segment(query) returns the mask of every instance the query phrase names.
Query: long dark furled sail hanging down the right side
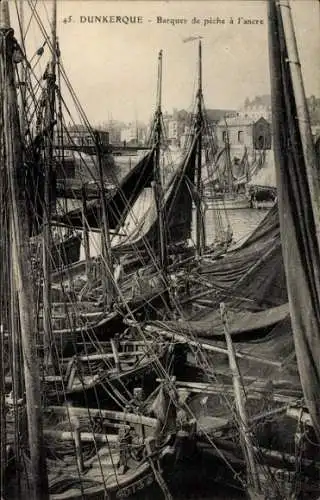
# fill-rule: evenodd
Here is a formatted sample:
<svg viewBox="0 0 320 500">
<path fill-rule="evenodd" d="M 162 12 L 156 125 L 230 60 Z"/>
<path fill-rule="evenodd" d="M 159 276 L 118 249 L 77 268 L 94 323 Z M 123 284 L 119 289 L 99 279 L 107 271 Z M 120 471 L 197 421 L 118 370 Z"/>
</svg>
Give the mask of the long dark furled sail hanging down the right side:
<svg viewBox="0 0 320 500">
<path fill-rule="evenodd" d="M 289 8 L 287 2 L 280 6 L 269 0 L 272 121 L 280 232 L 298 369 L 305 401 L 320 439 L 320 252 L 316 235 L 320 221 L 313 204 L 317 179 L 312 182 L 315 171 L 303 144 L 301 131 L 305 132 L 305 123 L 299 124 L 297 118 L 300 110 L 292 75 L 297 76 L 299 61 L 297 55 L 292 60 L 292 53 L 291 60 L 288 57 L 288 44 L 292 43 L 288 29 L 292 25 L 288 28 L 290 11 L 286 11 L 284 18 L 283 8 Z"/>
</svg>

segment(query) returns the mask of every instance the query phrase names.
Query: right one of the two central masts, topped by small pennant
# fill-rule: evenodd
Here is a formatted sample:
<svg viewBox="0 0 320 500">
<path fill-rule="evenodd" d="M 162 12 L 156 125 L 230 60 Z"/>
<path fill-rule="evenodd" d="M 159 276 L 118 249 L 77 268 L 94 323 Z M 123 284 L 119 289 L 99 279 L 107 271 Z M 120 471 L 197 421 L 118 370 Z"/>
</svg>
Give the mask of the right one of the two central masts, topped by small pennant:
<svg viewBox="0 0 320 500">
<path fill-rule="evenodd" d="M 197 91 L 197 118 L 196 118 L 196 133 L 198 136 L 197 142 L 197 165 L 196 165 L 196 252 L 200 256 L 203 253 L 205 246 L 204 225 L 201 212 L 202 199 L 202 182 L 201 182 L 201 166 L 202 166 L 202 129 L 203 129 L 203 111 L 202 111 L 202 44 L 199 40 L 198 46 L 198 91 Z"/>
</svg>

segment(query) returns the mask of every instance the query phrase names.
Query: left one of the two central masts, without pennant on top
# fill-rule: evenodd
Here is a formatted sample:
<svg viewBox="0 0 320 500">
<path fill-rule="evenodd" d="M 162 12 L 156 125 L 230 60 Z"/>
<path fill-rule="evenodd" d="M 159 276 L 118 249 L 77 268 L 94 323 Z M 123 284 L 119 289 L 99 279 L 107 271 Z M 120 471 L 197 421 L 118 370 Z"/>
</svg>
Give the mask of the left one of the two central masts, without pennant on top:
<svg viewBox="0 0 320 500">
<path fill-rule="evenodd" d="M 165 273 L 167 268 L 167 245 L 165 221 L 163 213 L 163 190 L 160 174 L 160 147 L 162 139 L 162 50 L 158 56 L 158 79 L 157 79 L 157 108 L 155 126 L 155 164 L 154 164 L 154 193 L 159 221 L 159 245 L 160 266 Z"/>
</svg>

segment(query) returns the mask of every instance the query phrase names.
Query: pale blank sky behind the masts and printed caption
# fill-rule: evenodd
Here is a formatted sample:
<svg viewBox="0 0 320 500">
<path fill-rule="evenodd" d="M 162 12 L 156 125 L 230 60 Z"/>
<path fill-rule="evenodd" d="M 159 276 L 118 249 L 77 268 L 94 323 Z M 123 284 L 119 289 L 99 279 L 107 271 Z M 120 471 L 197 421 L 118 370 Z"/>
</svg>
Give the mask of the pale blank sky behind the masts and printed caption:
<svg viewBox="0 0 320 500">
<path fill-rule="evenodd" d="M 44 5 L 38 2 L 46 27 L 51 5 L 50 0 Z M 320 4 L 318 0 L 292 0 L 291 6 L 306 94 L 320 96 Z M 11 11 L 15 25 L 14 8 Z M 26 9 L 26 25 L 28 15 Z M 106 16 L 109 22 L 89 23 L 90 16 Z M 112 16 L 131 16 L 136 22 L 112 23 Z M 194 18 L 200 23 L 192 22 Z M 258 24 L 245 24 L 244 19 Z M 198 49 L 197 41 L 183 41 L 188 37 L 202 37 L 207 108 L 237 109 L 246 97 L 270 93 L 265 1 L 58 0 L 57 21 L 65 70 L 92 124 L 111 118 L 126 122 L 150 119 L 160 49 L 163 109 L 192 109 Z M 30 53 L 42 44 L 34 22 L 27 41 Z"/>
</svg>

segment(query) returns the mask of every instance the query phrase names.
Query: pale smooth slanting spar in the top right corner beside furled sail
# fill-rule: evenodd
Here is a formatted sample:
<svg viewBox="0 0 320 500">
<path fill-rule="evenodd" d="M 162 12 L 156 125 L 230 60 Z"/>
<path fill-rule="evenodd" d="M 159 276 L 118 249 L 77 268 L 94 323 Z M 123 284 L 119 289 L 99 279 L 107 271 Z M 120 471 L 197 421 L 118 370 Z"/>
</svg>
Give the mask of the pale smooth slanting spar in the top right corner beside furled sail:
<svg viewBox="0 0 320 500">
<path fill-rule="evenodd" d="M 282 17 L 283 30 L 286 41 L 288 60 L 290 68 L 295 104 L 297 110 L 297 122 L 301 135 L 302 149 L 306 163 L 308 185 L 310 191 L 311 204 L 315 217 L 315 227 L 317 232 L 318 246 L 320 248 L 320 177 L 317 166 L 315 146 L 311 132 L 310 116 L 303 85 L 301 64 L 294 32 L 291 7 L 288 0 L 278 2 Z"/>
</svg>

